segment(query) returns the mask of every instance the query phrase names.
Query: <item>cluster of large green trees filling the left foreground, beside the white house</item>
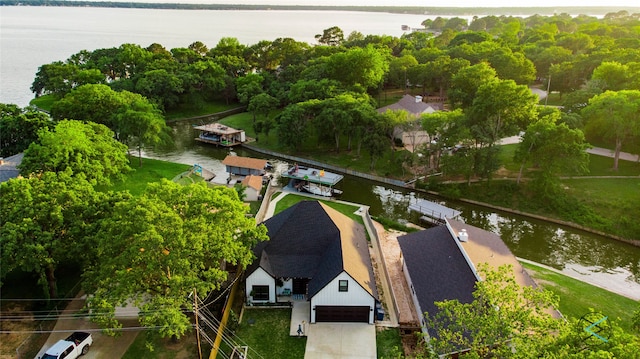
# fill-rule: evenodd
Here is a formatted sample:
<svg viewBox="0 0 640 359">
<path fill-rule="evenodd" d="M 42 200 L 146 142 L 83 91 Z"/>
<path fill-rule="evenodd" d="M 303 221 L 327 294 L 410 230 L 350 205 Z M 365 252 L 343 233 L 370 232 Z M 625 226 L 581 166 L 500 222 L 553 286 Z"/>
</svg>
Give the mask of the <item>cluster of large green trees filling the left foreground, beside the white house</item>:
<svg viewBox="0 0 640 359">
<path fill-rule="evenodd" d="M 107 331 L 121 326 L 115 308 L 132 301 L 142 325 L 179 338 L 191 328 L 189 294 L 219 290 L 226 265 L 245 268 L 266 229 L 224 186 L 165 180 L 138 197 L 96 189 L 121 180 L 128 164 L 127 146 L 103 124 L 42 126 L 24 150 L 22 176 L 0 183 L 0 281 L 32 272 L 56 298 L 57 269 L 72 264 L 92 294 L 92 319 Z"/>
</svg>

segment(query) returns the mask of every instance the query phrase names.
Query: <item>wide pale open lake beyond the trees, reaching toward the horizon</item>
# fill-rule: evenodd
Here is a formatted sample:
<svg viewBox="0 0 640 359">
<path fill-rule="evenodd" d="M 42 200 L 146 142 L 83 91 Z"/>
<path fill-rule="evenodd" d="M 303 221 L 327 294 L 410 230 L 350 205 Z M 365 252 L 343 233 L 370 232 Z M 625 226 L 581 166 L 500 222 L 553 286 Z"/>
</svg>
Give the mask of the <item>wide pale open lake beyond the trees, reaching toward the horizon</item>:
<svg viewBox="0 0 640 359">
<path fill-rule="evenodd" d="M 0 7 L 0 102 L 28 105 L 38 67 L 64 61 L 80 50 L 123 43 L 167 49 L 201 41 L 215 47 L 223 37 L 244 45 L 290 37 L 310 44 L 338 26 L 345 37 L 401 36 L 402 25 L 419 27 L 426 15 L 348 11 L 154 10 L 76 7 Z"/>
</svg>

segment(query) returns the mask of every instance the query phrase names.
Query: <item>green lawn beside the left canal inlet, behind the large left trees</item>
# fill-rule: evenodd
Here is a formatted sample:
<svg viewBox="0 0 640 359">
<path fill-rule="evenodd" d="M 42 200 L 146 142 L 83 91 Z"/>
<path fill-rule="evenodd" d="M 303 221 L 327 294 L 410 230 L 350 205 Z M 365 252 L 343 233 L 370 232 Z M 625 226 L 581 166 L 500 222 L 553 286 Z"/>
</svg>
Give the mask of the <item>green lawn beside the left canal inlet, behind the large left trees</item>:
<svg viewBox="0 0 640 359">
<path fill-rule="evenodd" d="M 142 167 L 138 167 L 138 158 L 131 157 L 133 171 L 126 174 L 124 181 L 116 182 L 112 186 L 99 186 L 102 191 L 129 191 L 134 196 L 144 192 L 149 183 L 158 182 L 163 178 L 173 179 L 180 173 L 188 171 L 191 166 L 167 161 L 142 159 Z"/>
</svg>

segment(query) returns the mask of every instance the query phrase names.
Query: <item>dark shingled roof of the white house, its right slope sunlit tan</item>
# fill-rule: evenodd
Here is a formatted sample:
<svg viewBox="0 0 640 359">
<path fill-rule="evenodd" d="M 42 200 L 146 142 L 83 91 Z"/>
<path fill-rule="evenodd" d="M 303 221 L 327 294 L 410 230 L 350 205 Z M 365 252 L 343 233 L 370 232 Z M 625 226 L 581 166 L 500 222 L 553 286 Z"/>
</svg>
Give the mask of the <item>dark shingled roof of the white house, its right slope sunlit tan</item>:
<svg viewBox="0 0 640 359">
<path fill-rule="evenodd" d="M 311 278 L 309 296 L 343 270 L 374 298 L 378 297 L 364 227 L 318 201 L 302 201 L 264 222 L 269 241 L 254 248 L 262 267 L 274 278 Z"/>
</svg>

